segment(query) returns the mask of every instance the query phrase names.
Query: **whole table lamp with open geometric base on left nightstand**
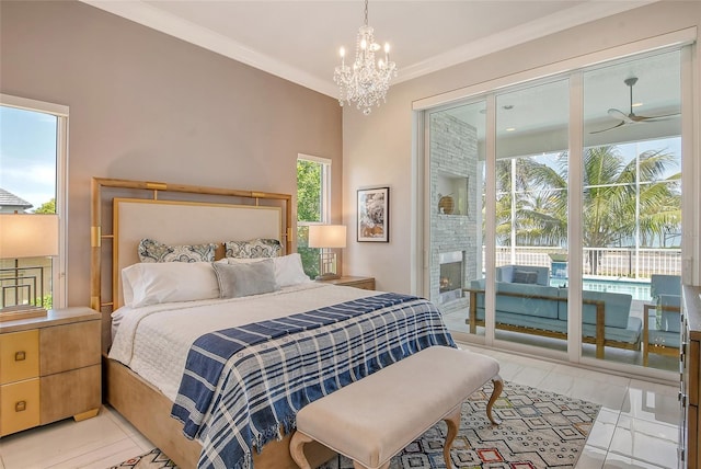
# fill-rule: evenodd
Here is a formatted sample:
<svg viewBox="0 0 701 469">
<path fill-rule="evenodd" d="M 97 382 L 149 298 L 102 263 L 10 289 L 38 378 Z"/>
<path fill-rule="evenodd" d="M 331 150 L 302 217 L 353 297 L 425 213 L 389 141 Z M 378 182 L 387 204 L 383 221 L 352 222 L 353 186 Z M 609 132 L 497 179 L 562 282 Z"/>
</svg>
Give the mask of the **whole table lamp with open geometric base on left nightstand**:
<svg viewBox="0 0 701 469">
<path fill-rule="evenodd" d="M 23 258 L 58 255 L 58 215 L 0 214 L 0 259 L 14 259 L 14 267 L 2 268 L 0 291 L 2 305 L 0 322 L 46 316 L 44 298 L 44 266 L 20 266 Z M 38 271 L 36 276 L 23 276 L 25 271 Z M 7 275 L 10 273 L 10 275 Z M 25 284 L 23 281 L 31 279 Z M 5 284 L 5 282 L 12 282 Z M 38 283 L 38 286 L 37 286 Z M 26 304 L 20 304 L 20 291 L 26 290 Z M 8 293 L 14 293 L 14 306 L 7 306 Z M 37 305 L 37 296 L 39 305 Z"/>
</svg>

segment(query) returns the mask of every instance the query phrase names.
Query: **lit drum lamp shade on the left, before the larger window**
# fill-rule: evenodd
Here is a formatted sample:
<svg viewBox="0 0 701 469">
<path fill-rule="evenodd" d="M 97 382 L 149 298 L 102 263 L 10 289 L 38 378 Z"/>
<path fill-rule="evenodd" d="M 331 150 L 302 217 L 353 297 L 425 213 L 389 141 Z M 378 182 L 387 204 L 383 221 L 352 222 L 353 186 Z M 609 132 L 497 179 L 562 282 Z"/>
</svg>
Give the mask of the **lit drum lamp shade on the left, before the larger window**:
<svg viewBox="0 0 701 469">
<path fill-rule="evenodd" d="M 58 255 L 58 215 L 0 214 L 0 259 Z"/>
</svg>

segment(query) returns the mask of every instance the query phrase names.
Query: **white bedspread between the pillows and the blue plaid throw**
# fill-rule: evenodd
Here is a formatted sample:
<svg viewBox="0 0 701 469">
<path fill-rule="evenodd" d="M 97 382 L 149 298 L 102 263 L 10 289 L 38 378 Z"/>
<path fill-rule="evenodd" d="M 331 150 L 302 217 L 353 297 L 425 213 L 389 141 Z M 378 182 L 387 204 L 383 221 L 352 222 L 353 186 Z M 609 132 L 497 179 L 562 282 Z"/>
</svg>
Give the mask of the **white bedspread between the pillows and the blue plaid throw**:
<svg viewBox="0 0 701 469">
<path fill-rule="evenodd" d="M 123 307 L 113 313 L 119 325 L 110 358 L 128 366 L 174 401 L 187 353 L 200 335 L 378 294 L 306 283 L 243 298 Z"/>
</svg>

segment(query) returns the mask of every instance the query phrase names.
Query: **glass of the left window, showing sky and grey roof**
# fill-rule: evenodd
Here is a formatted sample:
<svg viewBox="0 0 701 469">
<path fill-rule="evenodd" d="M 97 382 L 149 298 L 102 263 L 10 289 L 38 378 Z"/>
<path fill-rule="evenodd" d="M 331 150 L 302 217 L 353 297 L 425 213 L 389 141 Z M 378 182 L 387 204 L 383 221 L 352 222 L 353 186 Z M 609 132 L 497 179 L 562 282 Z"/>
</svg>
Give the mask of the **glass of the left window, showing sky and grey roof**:
<svg viewBox="0 0 701 469">
<path fill-rule="evenodd" d="M 0 213 L 55 214 L 58 118 L 0 106 Z M 53 305 L 53 259 L 0 260 L 0 308 Z"/>
</svg>

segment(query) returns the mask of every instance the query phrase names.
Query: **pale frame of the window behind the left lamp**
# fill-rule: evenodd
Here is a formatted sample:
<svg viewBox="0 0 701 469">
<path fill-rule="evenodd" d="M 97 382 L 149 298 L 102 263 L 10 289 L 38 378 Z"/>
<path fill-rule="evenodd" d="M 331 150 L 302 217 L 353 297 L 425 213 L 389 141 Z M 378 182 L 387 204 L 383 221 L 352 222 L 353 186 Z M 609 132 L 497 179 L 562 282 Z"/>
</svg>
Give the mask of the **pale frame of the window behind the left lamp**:
<svg viewBox="0 0 701 469">
<path fill-rule="evenodd" d="M 56 117 L 56 215 L 58 215 L 58 256 L 51 268 L 53 307 L 68 305 L 66 281 L 68 253 L 68 116 L 69 106 L 0 93 L 0 105 L 51 114 Z"/>
</svg>

